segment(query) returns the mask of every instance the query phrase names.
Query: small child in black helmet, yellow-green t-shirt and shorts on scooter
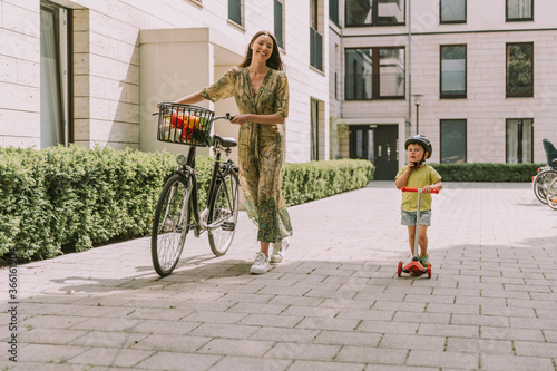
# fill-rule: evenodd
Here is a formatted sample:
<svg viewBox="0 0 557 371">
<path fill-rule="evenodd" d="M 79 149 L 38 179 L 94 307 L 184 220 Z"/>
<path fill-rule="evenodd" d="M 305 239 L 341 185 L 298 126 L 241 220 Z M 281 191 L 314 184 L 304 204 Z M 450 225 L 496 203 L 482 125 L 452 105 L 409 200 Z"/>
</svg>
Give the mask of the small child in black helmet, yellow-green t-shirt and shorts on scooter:
<svg viewBox="0 0 557 371">
<path fill-rule="evenodd" d="M 420 226 L 418 231 L 418 244 L 420 245 L 420 263 L 427 266 L 428 256 L 428 226 L 431 224 L 431 189 L 441 189 L 441 176 L 424 162 L 431 156 L 431 141 L 423 135 L 418 134 L 404 143 L 408 165 L 397 174 L 394 185 L 398 189 L 402 187 L 422 188 L 420 205 Z M 418 194 L 402 193 L 402 225 L 408 226 L 408 242 L 412 256 L 414 254 L 416 214 L 418 209 Z"/>
</svg>

